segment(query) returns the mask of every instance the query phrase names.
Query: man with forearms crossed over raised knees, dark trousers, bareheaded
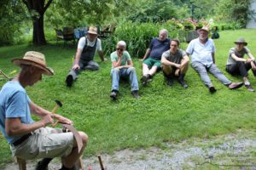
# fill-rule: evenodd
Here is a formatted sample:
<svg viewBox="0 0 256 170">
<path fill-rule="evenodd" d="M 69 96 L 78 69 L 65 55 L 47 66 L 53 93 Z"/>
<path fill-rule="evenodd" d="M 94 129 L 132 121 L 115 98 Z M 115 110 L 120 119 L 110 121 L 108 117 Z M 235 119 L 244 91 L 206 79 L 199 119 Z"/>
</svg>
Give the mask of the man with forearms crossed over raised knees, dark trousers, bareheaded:
<svg viewBox="0 0 256 170">
<path fill-rule="evenodd" d="M 179 40 L 172 39 L 171 48 L 162 54 L 163 73 L 167 79 L 167 85 L 173 85 L 173 78 L 177 77 L 177 81 L 183 86 L 188 88 L 184 81 L 186 72 L 189 69 L 189 57 L 182 49 L 178 48 Z"/>
</svg>

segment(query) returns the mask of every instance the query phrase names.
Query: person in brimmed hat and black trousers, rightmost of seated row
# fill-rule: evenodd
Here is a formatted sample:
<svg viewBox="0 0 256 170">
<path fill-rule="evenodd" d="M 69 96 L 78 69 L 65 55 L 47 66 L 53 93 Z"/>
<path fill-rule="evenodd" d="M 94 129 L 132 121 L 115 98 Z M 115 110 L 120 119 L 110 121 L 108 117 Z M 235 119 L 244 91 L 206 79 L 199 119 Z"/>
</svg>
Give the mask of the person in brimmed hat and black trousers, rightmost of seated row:
<svg viewBox="0 0 256 170">
<path fill-rule="evenodd" d="M 247 90 L 254 92 L 251 83 L 248 81 L 248 72 L 250 69 L 253 71 L 254 77 L 256 77 L 256 62 L 253 54 L 246 48 L 247 42 L 244 38 L 238 38 L 235 42 L 236 47 L 230 48 L 229 56 L 226 65 L 226 71 L 231 75 L 241 75 L 243 77 L 244 85 Z M 247 54 L 248 59 L 243 59 L 244 54 Z"/>
</svg>

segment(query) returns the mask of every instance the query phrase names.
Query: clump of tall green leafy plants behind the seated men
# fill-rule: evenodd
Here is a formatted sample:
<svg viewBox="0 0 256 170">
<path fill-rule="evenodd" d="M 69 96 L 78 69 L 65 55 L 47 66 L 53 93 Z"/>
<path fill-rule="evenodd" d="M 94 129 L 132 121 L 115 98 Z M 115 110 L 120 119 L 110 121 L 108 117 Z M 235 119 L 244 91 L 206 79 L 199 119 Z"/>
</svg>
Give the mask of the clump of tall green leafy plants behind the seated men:
<svg viewBox="0 0 256 170">
<path fill-rule="evenodd" d="M 153 37 L 158 37 L 159 31 L 163 28 L 169 31 L 169 37 L 177 37 L 177 27 L 167 23 L 137 23 L 125 22 L 117 26 L 113 37 L 103 39 L 102 43 L 105 53 L 110 54 L 115 50 L 118 41 L 123 40 L 127 43 L 127 50 L 133 57 L 141 58 Z"/>
</svg>

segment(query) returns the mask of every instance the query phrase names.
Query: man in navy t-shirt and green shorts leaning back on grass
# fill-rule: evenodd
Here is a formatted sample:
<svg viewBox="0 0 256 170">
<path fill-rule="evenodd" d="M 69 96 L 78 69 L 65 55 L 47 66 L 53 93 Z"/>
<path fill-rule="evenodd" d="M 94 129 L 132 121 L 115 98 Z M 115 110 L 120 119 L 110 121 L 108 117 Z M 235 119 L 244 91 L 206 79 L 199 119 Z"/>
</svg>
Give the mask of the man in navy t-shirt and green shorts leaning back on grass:
<svg viewBox="0 0 256 170">
<path fill-rule="evenodd" d="M 143 85 L 147 85 L 154 73 L 160 69 L 161 56 L 170 48 L 170 39 L 167 37 L 168 31 L 162 29 L 159 32 L 159 37 L 155 37 L 150 42 L 149 48 L 143 57 L 143 77 L 141 78 Z"/>
</svg>

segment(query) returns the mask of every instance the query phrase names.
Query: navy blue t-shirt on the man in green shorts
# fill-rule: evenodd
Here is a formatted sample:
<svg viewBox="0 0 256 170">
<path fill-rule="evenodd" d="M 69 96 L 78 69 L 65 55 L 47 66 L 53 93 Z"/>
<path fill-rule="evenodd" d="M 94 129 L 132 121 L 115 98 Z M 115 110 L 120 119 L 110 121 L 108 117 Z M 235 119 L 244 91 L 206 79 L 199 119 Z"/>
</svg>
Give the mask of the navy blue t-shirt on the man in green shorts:
<svg viewBox="0 0 256 170">
<path fill-rule="evenodd" d="M 152 59 L 160 60 L 162 54 L 170 49 L 170 39 L 166 38 L 165 41 L 160 41 L 158 38 L 154 38 L 149 45 L 150 54 L 149 57 Z"/>
</svg>

